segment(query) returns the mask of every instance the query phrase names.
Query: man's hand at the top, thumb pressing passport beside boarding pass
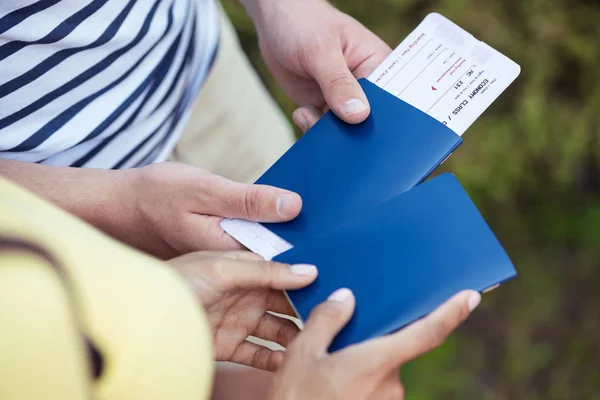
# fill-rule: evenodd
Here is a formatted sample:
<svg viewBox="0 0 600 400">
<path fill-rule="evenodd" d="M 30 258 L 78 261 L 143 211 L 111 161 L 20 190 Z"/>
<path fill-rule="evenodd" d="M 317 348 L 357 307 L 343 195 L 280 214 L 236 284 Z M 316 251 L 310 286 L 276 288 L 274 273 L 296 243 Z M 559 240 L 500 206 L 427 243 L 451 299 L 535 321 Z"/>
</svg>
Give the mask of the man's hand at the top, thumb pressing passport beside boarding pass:
<svg viewBox="0 0 600 400">
<path fill-rule="evenodd" d="M 328 106 L 348 123 L 367 118 L 369 103 L 356 78 L 391 52 L 385 42 L 326 0 L 241 1 L 267 66 L 297 104 Z M 294 122 L 306 131 L 315 113 L 300 108 Z"/>
</svg>

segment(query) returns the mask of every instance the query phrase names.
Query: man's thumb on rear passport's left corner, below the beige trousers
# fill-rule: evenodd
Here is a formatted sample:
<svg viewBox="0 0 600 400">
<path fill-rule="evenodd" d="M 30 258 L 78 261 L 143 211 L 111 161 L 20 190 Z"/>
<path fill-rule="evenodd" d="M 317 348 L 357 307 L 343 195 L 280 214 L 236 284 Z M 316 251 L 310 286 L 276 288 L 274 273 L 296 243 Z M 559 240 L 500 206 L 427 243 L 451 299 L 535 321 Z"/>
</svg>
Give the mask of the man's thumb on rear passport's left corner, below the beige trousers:
<svg viewBox="0 0 600 400">
<path fill-rule="evenodd" d="M 212 176 L 204 182 L 199 214 L 241 218 L 257 222 L 285 222 L 298 216 L 302 199 L 288 190 L 247 185 Z"/>
</svg>

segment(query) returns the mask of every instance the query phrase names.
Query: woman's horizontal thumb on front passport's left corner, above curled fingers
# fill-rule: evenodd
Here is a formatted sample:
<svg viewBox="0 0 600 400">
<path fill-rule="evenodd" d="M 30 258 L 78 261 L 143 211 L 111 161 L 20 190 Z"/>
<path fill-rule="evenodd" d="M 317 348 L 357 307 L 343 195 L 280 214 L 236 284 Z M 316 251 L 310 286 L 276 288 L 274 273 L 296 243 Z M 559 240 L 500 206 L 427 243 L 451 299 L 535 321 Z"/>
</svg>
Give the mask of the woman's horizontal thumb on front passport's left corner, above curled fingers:
<svg viewBox="0 0 600 400">
<path fill-rule="evenodd" d="M 224 289 L 300 289 L 317 278 L 314 265 L 287 265 L 271 261 L 216 259 L 214 276 Z"/>
</svg>

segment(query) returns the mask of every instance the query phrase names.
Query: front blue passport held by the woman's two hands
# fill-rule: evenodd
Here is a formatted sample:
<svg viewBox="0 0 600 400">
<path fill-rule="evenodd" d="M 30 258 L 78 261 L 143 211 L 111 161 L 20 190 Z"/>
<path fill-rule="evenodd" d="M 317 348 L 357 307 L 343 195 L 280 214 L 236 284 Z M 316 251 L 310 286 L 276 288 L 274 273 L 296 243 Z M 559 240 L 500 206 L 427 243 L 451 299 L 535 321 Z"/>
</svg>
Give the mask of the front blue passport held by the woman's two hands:
<svg viewBox="0 0 600 400">
<path fill-rule="evenodd" d="M 313 264 L 311 286 L 289 291 L 299 317 L 347 287 L 356 311 L 331 351 L 394 332 L 464 289 L 484 291 L 516 276 L 469 196 L 442 174 L 274 258 Z"/>
</svg>

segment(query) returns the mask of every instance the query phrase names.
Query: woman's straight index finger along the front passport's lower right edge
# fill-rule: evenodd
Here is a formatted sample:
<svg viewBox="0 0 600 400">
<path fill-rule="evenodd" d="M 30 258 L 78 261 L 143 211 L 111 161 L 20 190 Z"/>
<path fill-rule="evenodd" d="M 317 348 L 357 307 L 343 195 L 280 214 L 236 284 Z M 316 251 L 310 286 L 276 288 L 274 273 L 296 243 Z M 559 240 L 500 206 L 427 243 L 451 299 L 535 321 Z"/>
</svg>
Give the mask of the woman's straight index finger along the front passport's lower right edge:
<svg viewBox="0 0 600 400">
<path fill-rule="evenodd" d="M 478 292 L 461 292 L 425 318 L 397 333 L 374 339 L 361 350 L 372 356 L 370 360 L 374 368 L 387 373 L 444 343 L 480 301 Z"/>
</svg>

